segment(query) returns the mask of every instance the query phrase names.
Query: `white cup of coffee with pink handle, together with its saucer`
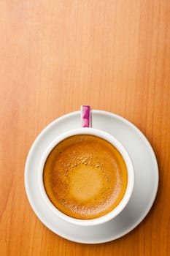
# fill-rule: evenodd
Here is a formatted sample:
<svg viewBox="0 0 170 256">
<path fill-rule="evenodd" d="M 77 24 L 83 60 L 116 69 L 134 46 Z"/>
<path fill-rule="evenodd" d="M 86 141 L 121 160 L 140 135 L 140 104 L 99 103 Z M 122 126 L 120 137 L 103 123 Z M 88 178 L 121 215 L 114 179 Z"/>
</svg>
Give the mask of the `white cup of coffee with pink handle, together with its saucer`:
<svg viewBox="0 0 170 256">
<path fill-rule="evenodd" d="M 36 138 L 25 187 L 46 227 L 71 241 L 99 244 L 124 236 L 146 217 L 158 189 L 158 164 L 134 124 L 83 105 Z"/>
</svg>

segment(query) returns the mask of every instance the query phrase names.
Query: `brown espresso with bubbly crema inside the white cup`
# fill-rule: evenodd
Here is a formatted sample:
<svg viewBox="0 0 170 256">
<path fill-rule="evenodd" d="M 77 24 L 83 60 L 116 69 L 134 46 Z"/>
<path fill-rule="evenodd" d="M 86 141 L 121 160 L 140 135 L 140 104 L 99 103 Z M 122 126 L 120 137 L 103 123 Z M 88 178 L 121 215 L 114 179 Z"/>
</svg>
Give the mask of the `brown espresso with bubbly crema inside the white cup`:
<svg viewBox="0 0 170 256">
<path fill-rule="evenodd" d="M 72 135 L 48 154 L 43 183 L 53 206 L 74 219 L 95 219 L 125 195 L 128 170 L 120 152 L 96 135 Z"/>
</svg>

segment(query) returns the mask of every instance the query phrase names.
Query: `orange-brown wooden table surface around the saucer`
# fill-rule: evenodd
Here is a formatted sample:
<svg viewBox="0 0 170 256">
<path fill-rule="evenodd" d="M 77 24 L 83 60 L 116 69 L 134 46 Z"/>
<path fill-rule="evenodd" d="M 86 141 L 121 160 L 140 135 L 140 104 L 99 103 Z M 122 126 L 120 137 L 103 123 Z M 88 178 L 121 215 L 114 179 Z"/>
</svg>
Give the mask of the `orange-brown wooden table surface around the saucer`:
<svg viewBox="0 0 170 256">
<path fill-rule="evenodd" d="M 170 255 L 170 1 L 1 0 L 0 81 L 0 255 Z M 52 233 L 24 187 L 36 136 L 82 104 L 133 122 L 158 158 L 150 213 L 107 244 Z"/>
</svg>

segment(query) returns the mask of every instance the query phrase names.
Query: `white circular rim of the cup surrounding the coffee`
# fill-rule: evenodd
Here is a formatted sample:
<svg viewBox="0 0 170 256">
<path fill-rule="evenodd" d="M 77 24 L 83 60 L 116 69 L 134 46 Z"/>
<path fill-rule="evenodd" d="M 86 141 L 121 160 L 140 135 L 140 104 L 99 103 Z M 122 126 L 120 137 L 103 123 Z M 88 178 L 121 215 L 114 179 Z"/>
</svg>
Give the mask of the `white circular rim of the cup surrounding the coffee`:
<svg viewBox="0 0 170 256">
<path fill-rule="evenodd" d="M 120 154 L 122 155 L 125 161 L 125 165 L 128 171 L 128 184 L 125 190 L 125 194 L 123 196 L 123 199 L 120 200 L 120 203 L 114 209 L 112 209 L 112 211 L 109 211 L 109 213 L 105 214 L 104 216 L 97 217 L 94 219 L 76 219 L 74 217 L 69 217 L 68 215 L 63 214 L 63 212 L 59 211 L 58 208 L 56 208 L 53 205 L 53 203 L 50 201 L 49 197 L 45 192 L 45 187 L 43 182 L 43 171 L 44 171 L 44 165 L 45 165 L 46 159 L 50 154 L 50 151 L 52 151 L 53 148 L 58 145 L 58 143 L 60 143 L 62 140 L 69 138 L 73 135 L 94 135 L 99 138 L 103 138 L 104 140 L 107 140 L 109 143 L 115 146 L 115 148 L 117 148 L 117 150 L 120 152 Z M 118 214 L 120 214 L 120 212 L 123 211 L 123 208 L 125 208 L 128 201 L 130 200 L 131 194 L 134 189 L 134 165 L 125 147 L 120 143 L 120 141 L 118 141 L 115 137 L 113 137 L 109 133 L 104 132 L 100 129 L 94 129 L 91 127 L 72 129 L 69 132 L 64 132 L 63 134 L 58 135 L 58 137 L 55 138 L 55 140 L 53 140 L 53 142 L 50 143 L 49 146 L 47 146 L 47 149 L 44 152 L 44 154 L 42 154 L 42 158 L 39 162 L 39 169 L 38 169 L 38 185 L 39 185 L 39 190 L 42 195 L 42 198 L 45 201 L 47 207 L 50 208 L 50 210 L 53 211 L 53 213 L 57 215 L 59 218 L 65 220 L 66 222 L 70 222 L 74 225 L 81 225 L 81 226 L 99 225 L 109 221 L 110 219 L 115 218 Z"/>
</svg>

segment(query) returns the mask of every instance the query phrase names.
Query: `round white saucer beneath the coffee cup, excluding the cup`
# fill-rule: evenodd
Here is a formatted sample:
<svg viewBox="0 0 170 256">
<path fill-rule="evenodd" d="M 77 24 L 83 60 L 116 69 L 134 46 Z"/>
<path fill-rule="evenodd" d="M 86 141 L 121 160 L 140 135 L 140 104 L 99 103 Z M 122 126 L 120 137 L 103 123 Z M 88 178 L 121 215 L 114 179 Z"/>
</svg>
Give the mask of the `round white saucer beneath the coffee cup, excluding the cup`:
<svg viewBox="0 0 170 256">
<path fill-rule="evenodd" d="M 128 205 L 115 219 L 94 227 L 69 224 L 47 208 L 39 192 L 39 159 L 56 136 L 81 127 L 80 111 L 61 116 L 40 133 L 31 146 L 25 170 L 26 194 L 36 216 L 58 236 L 84 244 L 112 241 L 133 230 L 150 211 L 158 189 L 158 164 L 152 147 L 142 132 L 125 118 L 101 110 L 92 110 L 92 121 L 93 128 L 109 132 L 120 140 L 134 162 L 134 192 Z"/>
</svg>

